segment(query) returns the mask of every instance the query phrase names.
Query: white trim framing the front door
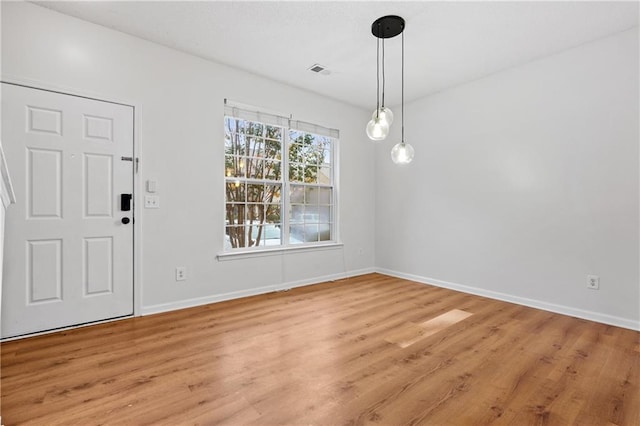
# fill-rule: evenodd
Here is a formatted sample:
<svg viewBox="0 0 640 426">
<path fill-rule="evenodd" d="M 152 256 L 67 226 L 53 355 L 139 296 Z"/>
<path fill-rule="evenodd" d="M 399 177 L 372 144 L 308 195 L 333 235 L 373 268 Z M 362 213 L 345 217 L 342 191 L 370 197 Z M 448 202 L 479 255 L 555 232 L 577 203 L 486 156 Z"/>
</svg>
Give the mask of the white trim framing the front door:
<svg viewBox="0 0 640 426">
<path fill-rule="evenodd" d="M 100 102 L 108 102 L 117 105 L 124 105 L 133 108 L 133 156 L 134 158 L 141 158 L 141 137 L 140 137 L 140 127 L 141 127 L 141 116 L 142 116 L 142 103 L 136 102 L 132 100 L 123 100 L 116 98 L 111 95 L 89 92 L 86 90 L 60 86 L 51 84 L 48 82 L 26 79 L 11 75 L 2 75 L 0 77 L 0 83 L 12 84 L 15 86 L 22 86 L 30 89 L 43 90 L 47 92 L 59 93 L 62 95 L 75 96 L 79 98 L 85 98 Z M 143 232 L 142 232 L 142 202 L 141 202 L 141 194 L 142 192 L 142 183 L 143 179 L 140 178 L 144 172 L 144 161 L 139 161 L 139 167 L 136 173 L 133 174 L 133 213 L 134 218 L 136 220 L 133 221 L 133 315 L 128 315 L 125 317 L 118 317 L 107 320 L 100 320 L 96 322 L 92 322 L 89 324 L 80 324 L 70 327 L 63 327 L 55 330 L 49 330 L 44 332 L 32 333 L 28 335 L 15 336 L 6 339 L 0 339 L 0 341 L 9 341 L 15 339 L 21 339 L 26 337 L 37 336 L 40 334 L 47 333 L 55 333 L 61 330 L 70 330 L 79 327 L 85 327 L 89 325 L 101 324 L 105 322 L 117 321 L 122 318 L 131 318 L 131 317 L 139 317 L 142 315 L 142 283 L 143 283 L 143 270 L 140 259 L 142 259 L 142 241 L 143 241 Z M 1 291 L 1 289 L 0 289 Z M 0 307 L 1 309 L 1 307 Z"/>
</svg>

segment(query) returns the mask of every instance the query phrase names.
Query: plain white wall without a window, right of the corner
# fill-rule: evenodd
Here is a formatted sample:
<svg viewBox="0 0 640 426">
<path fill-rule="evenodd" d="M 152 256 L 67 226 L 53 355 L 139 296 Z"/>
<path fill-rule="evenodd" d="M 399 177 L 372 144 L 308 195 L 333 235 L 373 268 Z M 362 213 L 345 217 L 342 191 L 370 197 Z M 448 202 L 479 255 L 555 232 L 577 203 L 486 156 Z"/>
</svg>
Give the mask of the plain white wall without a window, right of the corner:
<svg viewBox="0 0 640 426">
<path fill-rule="evenodd" d="M 376 265 L 639 329 L 638 90 L 636 27 L 406 105 L 414 162 L 376 153 Z"/>
</svg>

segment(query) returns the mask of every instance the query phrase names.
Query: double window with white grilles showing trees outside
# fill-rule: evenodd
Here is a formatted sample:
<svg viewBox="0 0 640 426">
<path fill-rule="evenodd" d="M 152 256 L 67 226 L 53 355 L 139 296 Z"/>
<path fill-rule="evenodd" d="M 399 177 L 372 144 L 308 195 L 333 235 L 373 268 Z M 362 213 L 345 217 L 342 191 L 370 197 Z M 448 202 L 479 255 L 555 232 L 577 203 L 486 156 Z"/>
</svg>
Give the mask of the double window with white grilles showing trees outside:
<svg viewBox="0 0 640 426">
<path fill-rule="evenodd" d="M 338 131 L 225 109 L 225 251 L 336 241 Z"/>
</svg>

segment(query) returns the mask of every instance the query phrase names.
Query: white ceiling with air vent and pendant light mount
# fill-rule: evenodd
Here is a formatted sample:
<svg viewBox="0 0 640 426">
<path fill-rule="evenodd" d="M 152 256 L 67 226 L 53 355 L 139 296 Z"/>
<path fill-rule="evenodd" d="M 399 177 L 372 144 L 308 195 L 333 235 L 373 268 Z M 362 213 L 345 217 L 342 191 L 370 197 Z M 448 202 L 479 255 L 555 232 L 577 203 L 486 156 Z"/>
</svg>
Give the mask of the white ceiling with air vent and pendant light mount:
<svg viewBox="0 0 640 426">
<path fill-rule="evenodd" d="M 406 21 L 405 101 L 638 25 L 630 2 L 43 1 L 37 4 L 352 105 L 375 108 L 372 22 Z M 400 102 L 400 37 L 386 104 Z M 320 63 L 330 75 L 308 68 Z M 212 76 L 212 78 L 215 78 Z"/>
</svg>

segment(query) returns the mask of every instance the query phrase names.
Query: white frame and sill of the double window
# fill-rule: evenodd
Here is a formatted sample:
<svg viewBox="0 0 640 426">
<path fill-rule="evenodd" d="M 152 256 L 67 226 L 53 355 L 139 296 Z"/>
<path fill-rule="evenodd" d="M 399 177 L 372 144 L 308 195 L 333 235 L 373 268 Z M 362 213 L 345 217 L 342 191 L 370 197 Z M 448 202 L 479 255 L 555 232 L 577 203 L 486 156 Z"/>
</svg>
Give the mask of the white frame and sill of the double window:
<svg viewBox="0 0 640 426">
<path fill-rule="evenodd" d="M 223 174 L 224 177 L 222 179 L 223 185 L 223 200 L 222 200 L 222 228 L 223 228 L 223 239 L 222 239 L 222 251 L 218 253 L 219 260 L 226 260 L 226 258 L 235 258 L 235 257 L 253 257 L 253 256 L 262 256 L 269 254 L 279 254 L 284 251 L 296 251 L 296 250 L 326 250 L 331 248 L 341 247 L 342 243 L 339 238 L 339 220 L 338 220 L 338 199 L 339 199 L 339 181 L 338 181 L 338 149 L 339 149 L 339 141 L 340 141 L 340 133 L 336 129 L 331 129 L 323 126 L 319 126 L 316 124 L 311 124 L 303 121 L 293 120 L 291 117 L 285 117 L 284 115 L 267 112 L 266 110 L 249 107 L 242 104 L 232 103 L 228 100 L 225 100 L 225 113 L 224 119 L 227 117 L 239 118 L 245 121 L 253 121 L 258 122 L 263 125 L 271 125 L 278 126 L 282 128 L 283 138 L 282 138 L 282 164 L 281 164 L 281 176 L 279 181 L 266 181 L 262 179 L 263 183 L 274 183 L 281 185 L 281 204 L 280 204 L 280 223 L 281 223 L 281 244 L 279 245 L 260 245 L 255 247 L 237 247 L 237 248 L 227 248 L 226 247 L 226 231 L 227 231 L 227 223 L 226 223 L 226 207 L 227 207 L 227 195 L 226 195 L 226 185 L 229 181 L 233 180 L 233 177 L 228 177 L 226 175 L 226 164 L 225 164 L 225 153 L 222 154 L 222 162 L 223 162 Z M 226 130 L 226 129 L 225 129 Z M 301 133 L 309 133 L 317 136 L 329 137 L 331 139 L 331 150 L 330 150 L 330 166 L 331 166 L 331 183 L 330 184 L 321 184 L 319 182 L 316 183 L 305 183 L 305 182 L 296 182 L 291 181 L 289 179 L 289 167 L 290 167 L 290 158 L 289 158 L 289 147 L 291 145 L 290 140 L 290 132 L 291 131 L 299 131 Z M 222 148 L 224 149 L 224 144 L 222 144 Z M 243 183 L 250 183 L 252 179 L 248 177 L 243 178 Z M 301 242 L 301 243 L 290 243 L 290 228 L 291 228 L 291 218 L 290 211 L 291 207 L 291 197 L 290 197 L 290 189 L 291 186 L 307 186 L 307 187 L 317 187 L 317 188 L 330 188 L 331 189 L 331 223 L 330 223 L 330 232 L 331 238 L 326 241 L 312 241 L 312 242 Z"/>
</svg>

